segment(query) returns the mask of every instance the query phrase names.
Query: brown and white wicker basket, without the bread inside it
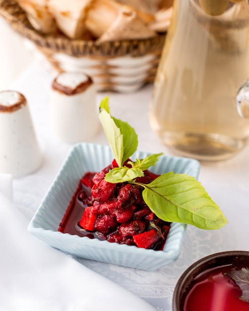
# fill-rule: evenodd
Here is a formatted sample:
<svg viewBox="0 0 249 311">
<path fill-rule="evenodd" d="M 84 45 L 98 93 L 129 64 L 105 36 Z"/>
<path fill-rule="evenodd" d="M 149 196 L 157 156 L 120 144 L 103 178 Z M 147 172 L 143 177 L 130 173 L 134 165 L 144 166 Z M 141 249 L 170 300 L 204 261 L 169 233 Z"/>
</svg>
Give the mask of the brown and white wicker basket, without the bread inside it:
<svg viewBox="0 0 249 311">
<path fill-rule="evenodd" d="M 37 32 L 14 0 L 0 0 L 0 15 L 54 69 L 83 72 L 93 78 L 98 91 L 132 92 L 154 81 L 165 34 L 102 43 L 71 40 Z"/>
</svg>

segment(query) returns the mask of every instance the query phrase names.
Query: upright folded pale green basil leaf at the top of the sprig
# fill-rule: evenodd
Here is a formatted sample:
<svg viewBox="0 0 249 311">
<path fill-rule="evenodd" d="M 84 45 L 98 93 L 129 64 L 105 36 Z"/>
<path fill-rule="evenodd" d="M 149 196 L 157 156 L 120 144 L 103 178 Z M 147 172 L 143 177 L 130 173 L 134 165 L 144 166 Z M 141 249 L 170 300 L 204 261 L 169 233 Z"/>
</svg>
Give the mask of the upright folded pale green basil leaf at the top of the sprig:
<svg viewBox="0 0 249 311">
<path fill-rule="evenodd" d="M 110 115 L 109 97 L 102 99 L 99 106 L 99 119 L 102 123 L 106 138 L 118 166 L 134 154 L 138 146 L 138 136 L 127 123 Z"/>
</svg>

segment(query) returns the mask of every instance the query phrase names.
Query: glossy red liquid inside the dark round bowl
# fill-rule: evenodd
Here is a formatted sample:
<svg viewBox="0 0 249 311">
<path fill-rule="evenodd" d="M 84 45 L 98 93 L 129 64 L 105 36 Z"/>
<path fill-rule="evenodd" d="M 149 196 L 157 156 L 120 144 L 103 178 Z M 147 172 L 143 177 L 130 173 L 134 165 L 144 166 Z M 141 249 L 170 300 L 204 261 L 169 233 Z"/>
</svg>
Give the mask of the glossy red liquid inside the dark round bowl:
<svg viewBox="0 0 249 311">
<path fill-rule="evenodd" d="M 240 288 L 224 275 L 232 268 L 214 268 L 193 280 L 183 311 L 249 311 L 249 303 L 240 299 Z"/>
</svg>

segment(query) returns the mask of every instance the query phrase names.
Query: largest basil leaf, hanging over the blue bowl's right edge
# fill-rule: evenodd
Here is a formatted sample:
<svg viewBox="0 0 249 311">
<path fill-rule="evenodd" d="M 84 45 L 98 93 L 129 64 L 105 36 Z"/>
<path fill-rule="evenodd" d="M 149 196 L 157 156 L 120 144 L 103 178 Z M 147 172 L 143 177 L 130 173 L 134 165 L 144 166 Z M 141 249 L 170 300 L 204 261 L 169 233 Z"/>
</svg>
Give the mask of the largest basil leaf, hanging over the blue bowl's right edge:
<svg viewBox="0 0 249 311">
<path fill-rule="evenodd" d="M 207 230 L 227 224 L 219 206 L 194 177 L 169 172 L 143 186 L 146 204 L 162 220 Z"/>
</svg>

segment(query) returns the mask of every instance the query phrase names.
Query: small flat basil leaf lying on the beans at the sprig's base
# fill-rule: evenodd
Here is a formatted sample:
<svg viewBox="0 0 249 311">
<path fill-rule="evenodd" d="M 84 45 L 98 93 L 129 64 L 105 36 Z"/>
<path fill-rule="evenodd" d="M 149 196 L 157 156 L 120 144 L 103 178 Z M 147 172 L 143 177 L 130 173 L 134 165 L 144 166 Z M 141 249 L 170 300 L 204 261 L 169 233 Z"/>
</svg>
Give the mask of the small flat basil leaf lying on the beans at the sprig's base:
<svg viewBox="0 0 249 311">
<path fill-rule="evenodd" d="M 131 181 L 137 177 L 144 176 L 144 172 L 139 168 L 129 168 L 126 166 L 115 167 L 105 175 L 105 181 L 110 183 L 118 183 Z"/>
</svg>

